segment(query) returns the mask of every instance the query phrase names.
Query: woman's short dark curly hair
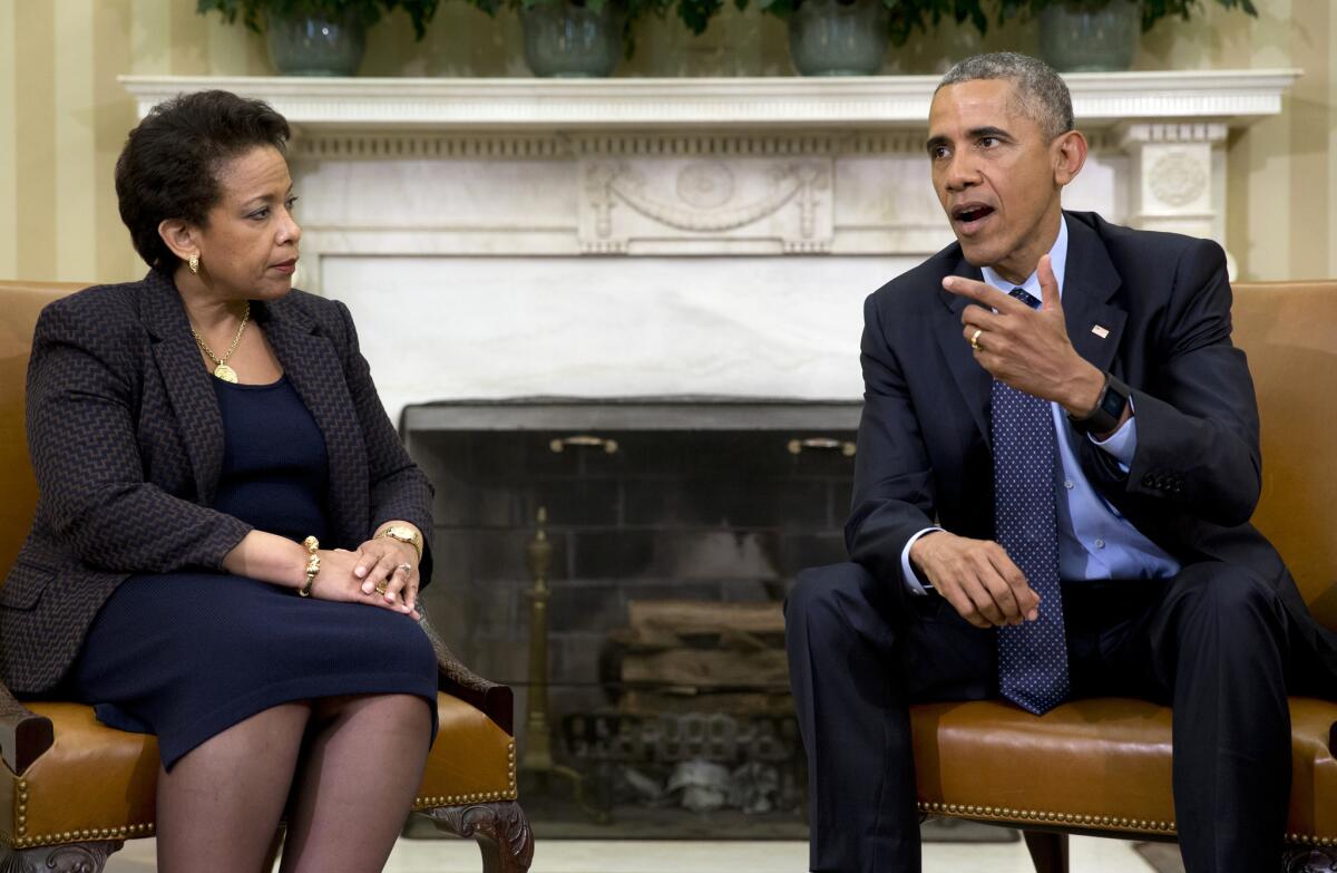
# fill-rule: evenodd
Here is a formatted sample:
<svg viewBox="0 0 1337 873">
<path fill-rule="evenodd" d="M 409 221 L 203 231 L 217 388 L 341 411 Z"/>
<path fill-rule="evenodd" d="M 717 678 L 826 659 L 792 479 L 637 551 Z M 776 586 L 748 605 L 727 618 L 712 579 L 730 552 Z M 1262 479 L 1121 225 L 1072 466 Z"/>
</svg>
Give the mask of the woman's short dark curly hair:
<svg viewBox="0 0 1337 873">
<path fill-rule="evenodd" d="M 183 94 L 148 110 L 116 159 L 120 220 L 139 257 L 154 269 L 175 269 L 180 258 L 158 225 L 179 218 L 207 226 L 223 195 L 223 163 L 258 146 L 282 151 L 290 135 L 287 119 L 267 103 L 229 91 Z"/>
</svg>

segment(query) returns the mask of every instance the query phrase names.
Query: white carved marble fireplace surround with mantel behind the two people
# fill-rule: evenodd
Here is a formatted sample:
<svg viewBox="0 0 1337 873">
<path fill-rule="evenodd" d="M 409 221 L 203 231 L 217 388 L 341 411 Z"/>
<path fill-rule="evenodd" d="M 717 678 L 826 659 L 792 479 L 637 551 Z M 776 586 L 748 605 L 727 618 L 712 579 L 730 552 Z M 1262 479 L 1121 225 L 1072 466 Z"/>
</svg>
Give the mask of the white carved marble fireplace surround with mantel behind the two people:
<svg viewBox="0 0 1337 873">
<path fill-rule="evenodd" d="M 1226 138 L 1300 71 L 1067 76 L 1066 205 L 1225 240 Z M 951 241 L 935 76 L 124 76 L 294 126 L 298 287 L 353 311 L 392 416 L 536 395 L 857 399 L 864 296 Z"/>
</svg>

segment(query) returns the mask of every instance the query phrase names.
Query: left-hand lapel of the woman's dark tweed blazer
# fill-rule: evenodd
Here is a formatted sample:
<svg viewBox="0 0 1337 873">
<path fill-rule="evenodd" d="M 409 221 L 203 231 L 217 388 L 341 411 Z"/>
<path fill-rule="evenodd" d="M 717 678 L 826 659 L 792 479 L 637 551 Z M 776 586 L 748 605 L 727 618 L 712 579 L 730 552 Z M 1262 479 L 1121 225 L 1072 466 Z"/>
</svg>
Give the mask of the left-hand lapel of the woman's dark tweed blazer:
<svg viewBox="0 0 1337 873">
<path fill-rule="evenodd" d="M 209 506 L 223 467 L 223 416 L 209 383 L 213 376 L 201 363 L 186 307 L 171 279 L 150 270 L 140 295 L 140 319 L 152 337 L 154 362 L 190 458 L 195 494 Z"/>
</svg>

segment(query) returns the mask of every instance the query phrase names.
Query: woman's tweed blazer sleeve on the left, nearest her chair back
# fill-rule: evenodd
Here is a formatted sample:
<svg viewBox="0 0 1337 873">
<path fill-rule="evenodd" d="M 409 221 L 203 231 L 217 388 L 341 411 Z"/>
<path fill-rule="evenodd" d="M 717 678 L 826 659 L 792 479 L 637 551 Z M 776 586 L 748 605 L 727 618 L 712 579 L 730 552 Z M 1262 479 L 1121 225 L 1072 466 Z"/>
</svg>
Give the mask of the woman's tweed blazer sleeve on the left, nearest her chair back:
<svg viewBox="0 0 1337 873">
<path fill-rule="evenodd" d="M 33 335 L 27 428 L 39 524 L 92 568 L 218 569 L 251 528 L 144 479 L 132 351 L 140 337 L 87 303 L 48 305 Z"/>
</svg>

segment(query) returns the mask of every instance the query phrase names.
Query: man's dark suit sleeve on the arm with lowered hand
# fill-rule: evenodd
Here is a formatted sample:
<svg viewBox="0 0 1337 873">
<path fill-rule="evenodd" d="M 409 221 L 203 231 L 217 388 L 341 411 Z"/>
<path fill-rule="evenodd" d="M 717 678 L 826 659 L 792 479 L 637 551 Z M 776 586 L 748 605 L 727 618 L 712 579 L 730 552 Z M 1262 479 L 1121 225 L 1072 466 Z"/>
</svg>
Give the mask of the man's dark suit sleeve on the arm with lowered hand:
<svg viewBox="0 0 1337 873">
<path fill-rule="evenodd" d="M 905 378 L 886 344 L 876 297 L 864 304 L 860 343 L 864 412 L 845 548 L 850 560 L 874 577 L 901 588 L 905 544 L 933 526 L 933 475 Z"/>
</svg>

